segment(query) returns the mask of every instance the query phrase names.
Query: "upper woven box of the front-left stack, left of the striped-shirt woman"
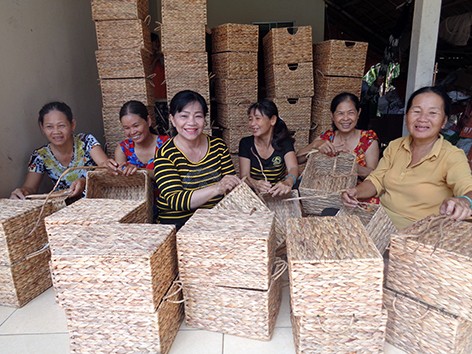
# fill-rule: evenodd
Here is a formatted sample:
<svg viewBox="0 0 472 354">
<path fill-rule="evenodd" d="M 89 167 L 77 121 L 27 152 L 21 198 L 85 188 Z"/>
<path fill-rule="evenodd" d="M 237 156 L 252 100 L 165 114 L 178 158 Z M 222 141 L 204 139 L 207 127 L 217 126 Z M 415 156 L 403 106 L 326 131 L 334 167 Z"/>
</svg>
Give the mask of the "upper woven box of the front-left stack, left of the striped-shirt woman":
<svg viewBox="0 0 472 354">
<path fill-rule="evenodd" d="M 174 226 L 69 224 L 48 233 L 63 308 L 152 313 L 177 276 Z"/>
</svg>

